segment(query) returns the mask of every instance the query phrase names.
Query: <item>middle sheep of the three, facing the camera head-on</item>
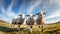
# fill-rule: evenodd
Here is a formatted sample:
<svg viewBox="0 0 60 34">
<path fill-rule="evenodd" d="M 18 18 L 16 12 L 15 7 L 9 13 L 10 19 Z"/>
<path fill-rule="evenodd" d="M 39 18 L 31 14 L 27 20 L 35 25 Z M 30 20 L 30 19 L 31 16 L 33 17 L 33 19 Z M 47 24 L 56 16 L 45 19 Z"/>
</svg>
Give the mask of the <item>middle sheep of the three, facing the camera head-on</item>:
<svg viewBox="0 0 60 34">
<path fill-rule="evenodd" d="M 30 15 L 27 15 L 27 16 L 29 16 L 29 17 L 28 17 L 28 19 L 26 20 L 26 24 L 28 25 L 28 29 L 29 29 L 30 32 L 32 33 L 32 27 L 33 27 L 34 22 L 35 22 L 35 20 L 34 20 L 34 16 L 35 16 L 35 15 L 30 14 Z"/>
</svg>

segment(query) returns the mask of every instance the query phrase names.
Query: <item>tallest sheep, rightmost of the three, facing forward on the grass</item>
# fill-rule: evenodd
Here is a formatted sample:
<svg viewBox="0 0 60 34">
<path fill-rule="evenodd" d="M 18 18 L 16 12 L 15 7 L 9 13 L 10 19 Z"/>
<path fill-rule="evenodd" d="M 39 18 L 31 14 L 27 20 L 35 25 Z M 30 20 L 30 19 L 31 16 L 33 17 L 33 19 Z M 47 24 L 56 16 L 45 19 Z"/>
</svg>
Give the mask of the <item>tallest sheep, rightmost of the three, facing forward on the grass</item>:
<svg viewBox="0 0 60 34">
<path fill-rule="evenodd" d="M 43 24 L 45 23 L 45 19 L 44 19 L 45 13 L 41 11 L 41 12 L 37 13 L 36 15 L 38 15 L 38 17 L 36 19 L 36 25 L 39 25 L 39 31 L 40 31 L 40 25 L 42 25 L 42 28 L 43 28 Z M 43 31 L 43 29 L 42 29 L 42 31 Z"/>
</svg>

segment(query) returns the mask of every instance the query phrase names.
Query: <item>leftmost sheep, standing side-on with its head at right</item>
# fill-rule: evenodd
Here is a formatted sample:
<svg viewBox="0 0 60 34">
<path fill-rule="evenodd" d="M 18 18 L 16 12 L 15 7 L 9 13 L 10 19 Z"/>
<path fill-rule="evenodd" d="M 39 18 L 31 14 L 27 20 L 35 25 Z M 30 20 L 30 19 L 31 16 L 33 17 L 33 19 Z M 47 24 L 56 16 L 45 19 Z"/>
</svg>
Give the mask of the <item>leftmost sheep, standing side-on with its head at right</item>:
<svg viewBox="0 0 60 34">
<path fill-rule="evenodd" d="M 18 18 L 13 18 L 12 19 L 12 25 L 11 25 L 11 27 L 13 27 L 14 28 L 14 25 L 18 25 L 18 30 L 20 30 L 20 25 L 22 25 L 23 23 L 24 23 L 24 17 L 23 17 L 23 15 L 19 15 L 20 17 L 18 17 Z"/>
</svg>

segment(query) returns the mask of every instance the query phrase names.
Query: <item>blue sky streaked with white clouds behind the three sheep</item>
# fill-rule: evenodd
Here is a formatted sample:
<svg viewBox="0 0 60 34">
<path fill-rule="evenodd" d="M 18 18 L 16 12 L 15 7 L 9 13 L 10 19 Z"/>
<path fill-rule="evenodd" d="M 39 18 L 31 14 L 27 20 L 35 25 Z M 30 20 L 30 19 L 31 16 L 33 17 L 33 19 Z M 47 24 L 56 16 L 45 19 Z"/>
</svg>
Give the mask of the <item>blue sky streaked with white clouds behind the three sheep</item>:
<svg viewBox="0 0 60 34">
<path fill-rule="evenodd" d="M 19 14 L 36 14 L 40 11 L 46 13 L 46 24 L 60 21 L 60 0 L 0 0 L 0 20 L 9 23 Z"/>
</svg>

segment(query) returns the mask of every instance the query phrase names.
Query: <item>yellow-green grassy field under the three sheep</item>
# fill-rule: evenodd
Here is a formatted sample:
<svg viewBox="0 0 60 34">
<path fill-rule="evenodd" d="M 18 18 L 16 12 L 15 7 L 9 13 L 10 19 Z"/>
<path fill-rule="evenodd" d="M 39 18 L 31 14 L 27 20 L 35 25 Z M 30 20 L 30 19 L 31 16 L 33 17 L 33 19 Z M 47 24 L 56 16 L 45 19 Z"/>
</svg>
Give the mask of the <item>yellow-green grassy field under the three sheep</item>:
<svg viewBox="0 0 60 34">
<path fill-rule="evenodd" d="M 40 30 L 42 29 L 40 25 Z M 21 25 L 21 31 L 17 31 L 17 25 L 11 29 L 11 24 L 0 21 L 0 34 L 60 34 L 60 22 L 54 24 L 44 24 L 43 32 L 38 31 L 38 25 L 33 25 L 33 32 L 27 29 L 27 25 Z"/>
</svg>

